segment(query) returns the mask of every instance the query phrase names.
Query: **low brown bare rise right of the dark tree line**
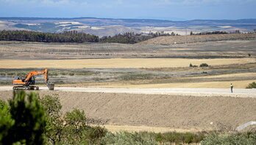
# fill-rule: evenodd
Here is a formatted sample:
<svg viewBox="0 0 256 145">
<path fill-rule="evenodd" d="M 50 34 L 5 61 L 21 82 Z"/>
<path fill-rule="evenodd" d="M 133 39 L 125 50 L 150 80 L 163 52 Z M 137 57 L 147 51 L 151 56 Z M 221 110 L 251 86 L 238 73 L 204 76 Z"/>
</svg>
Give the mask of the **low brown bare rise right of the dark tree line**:
<svg viewBox="0 0 256 145">
<path fill-rule="evenodd" d="M 173 45 L 191 42 L 208 42 L 223 40 L 249 40 L 255 39 L 256 34 L 210 34 L 210 35 L 188 35 L 188 36 L 168 36 L 155 37 L 150 40 L 139 42 L 146 45 Z"/>
</svg>

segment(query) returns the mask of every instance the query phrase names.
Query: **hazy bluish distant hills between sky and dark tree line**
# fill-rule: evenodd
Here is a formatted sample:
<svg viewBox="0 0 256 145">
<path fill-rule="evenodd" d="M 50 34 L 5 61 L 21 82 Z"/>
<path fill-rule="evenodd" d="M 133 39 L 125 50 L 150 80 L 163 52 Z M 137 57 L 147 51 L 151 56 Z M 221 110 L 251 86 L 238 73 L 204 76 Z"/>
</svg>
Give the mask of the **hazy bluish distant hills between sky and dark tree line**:
<svg viewBox="0 0 256 145">
<path fill-rule="evenodd" d="M 0 17 L 0 30 L 30 30 L 43 32 L 83 31 L 89 34 L 113 36 L 118 33 L 165 33 L 187 34 L 190 31 L 235 31 L 251 32 L 256 29 L 256 19 L 241 20 L 192 20 L 166 21 L 152 19 L 113 19 L 113 18 L 19 18 Z"/>
</svg>

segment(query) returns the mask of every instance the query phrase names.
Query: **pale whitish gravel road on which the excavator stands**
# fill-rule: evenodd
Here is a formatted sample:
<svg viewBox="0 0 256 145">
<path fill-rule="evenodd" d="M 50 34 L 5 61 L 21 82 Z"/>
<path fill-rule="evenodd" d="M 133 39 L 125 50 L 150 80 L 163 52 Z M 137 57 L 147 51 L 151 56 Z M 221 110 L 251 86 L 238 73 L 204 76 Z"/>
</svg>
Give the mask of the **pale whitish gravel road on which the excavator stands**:
<svg viewBox="0 0 256 145">
<path fill-rule="evenodd" d="M 12 86 L 0 86 L 0 91 L 13 90 Z M 40 90 L 48 90 L 40 87 Z M 171 94 L 196 97 L 253 97 L 256 98 L 256 89 L 209 89 L 209 88 L 159 88 L 159 89 L 120 89 L 120 88 L 82 88 L 82 87 L 55 87 L 54 92 L 102 92 L 128 94 Z"/>
</svg>

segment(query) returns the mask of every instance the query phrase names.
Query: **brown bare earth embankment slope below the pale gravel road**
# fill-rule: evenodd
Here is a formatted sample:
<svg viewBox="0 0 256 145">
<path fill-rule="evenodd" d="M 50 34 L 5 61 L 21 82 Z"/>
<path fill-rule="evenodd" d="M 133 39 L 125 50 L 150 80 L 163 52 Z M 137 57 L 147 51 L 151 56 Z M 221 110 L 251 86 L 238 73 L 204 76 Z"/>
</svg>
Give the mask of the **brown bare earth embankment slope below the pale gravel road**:
<svg viewBox="0 0 256 145">
<path fill-rule="evenodd" d="M 246 93 L 242 92 L 243 89 L 240 91 L 240 94 Z M 255 97 L 193 97 L 184 96 L 181 91 L 171 95 L 61 90 L 40 90 L 39 93 L 40 96 L 59 94 L 64 112 L 79 108 L 85 111 L 88 118 L 103 124 L 188 130 L 235 130 L 241 124 L 256 120 Z M 252 95 L 255 96 L 253 89 Z M 4 91 L 1 87 L 0 99 L 6 100 L 11 96 L 12 91 Z"/>
</svg>

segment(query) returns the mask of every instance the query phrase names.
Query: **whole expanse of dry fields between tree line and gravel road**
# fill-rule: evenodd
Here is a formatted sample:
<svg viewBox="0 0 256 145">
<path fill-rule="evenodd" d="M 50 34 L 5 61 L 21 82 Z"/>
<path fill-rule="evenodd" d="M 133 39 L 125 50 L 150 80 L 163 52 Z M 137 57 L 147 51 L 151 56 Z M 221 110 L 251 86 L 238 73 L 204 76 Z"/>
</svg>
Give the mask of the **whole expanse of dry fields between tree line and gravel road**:
<svg viewBox="0 0 256 145">
<path fill-rule="evenodd" d="M 48 67 L 57 86 L 227 88 L 233 82 L 235 88 L 245 88 L 256 80 L 256 40 L 241 39 L 254 35 L 193 37 L 217 36 L 240 40 L 177 45 L 0 42 L 0 84 Z M 202 63 L 210 67 L 189 67 Z M 43 84 L 43 78 L 37 83 Z"/>
</svg>

